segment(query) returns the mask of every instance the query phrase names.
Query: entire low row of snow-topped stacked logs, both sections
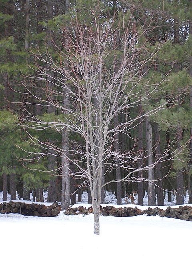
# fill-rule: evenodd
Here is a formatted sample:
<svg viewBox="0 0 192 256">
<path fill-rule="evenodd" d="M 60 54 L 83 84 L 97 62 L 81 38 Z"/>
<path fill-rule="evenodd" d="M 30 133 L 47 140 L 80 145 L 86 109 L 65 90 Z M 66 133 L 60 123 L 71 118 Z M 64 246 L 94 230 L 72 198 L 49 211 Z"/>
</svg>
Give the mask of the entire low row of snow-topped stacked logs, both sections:
<svg viewBox="0 0 192 256">
<path fill-rule="evenodd" d="M 22 202 L 9 203 L 3 202 L 0 204 L 0 213 L 19 213 L 27 216 L 38 216 L 38 217 L 54 217 L 58 216 L 61 211 L 61 207 L 54 203 L 50 206 L 45 206 L 44 204 L 26 204 Z M 83 206 L 68 208 L 64 211 L 65 215 L 87 215 L 93 213 L 92 206 L 85 208 Z M 137 207 L 120 207 L 115 208 L 114 206 L 100 207 L 100 214 L 103 216 L 115 216 L 115 217 L 131 217 L 136 215 L 146 214 L 147 216 L 159 215 L 160 217 L 176 218 L 180 220 L 190 220 L 192 221 L 192 207 L 191 206 L 179 206 L 179 208 L 170 208 L 162 210 L 158 207 L 150 208 L 146 210 L 140 210 Z"/>
</svg>

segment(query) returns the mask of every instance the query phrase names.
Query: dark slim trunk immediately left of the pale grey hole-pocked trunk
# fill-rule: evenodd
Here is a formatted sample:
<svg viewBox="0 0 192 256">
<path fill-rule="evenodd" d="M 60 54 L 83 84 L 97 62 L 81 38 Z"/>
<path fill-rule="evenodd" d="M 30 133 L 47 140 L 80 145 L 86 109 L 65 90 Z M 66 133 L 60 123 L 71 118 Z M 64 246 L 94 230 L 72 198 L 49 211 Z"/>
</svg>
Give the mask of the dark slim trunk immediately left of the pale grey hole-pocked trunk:
<svg viewBox="0 0 192 256">
<path fill-rule="evenodd" d="M 139 114 L 142 112 L 142 105 L 139 105 L 138 108 Z M 138 152 L 140 154 L 140 158 L 138 160 L 138 168 L 141 168 L 143 166 L 143 118 L 140 118 L 138 120 Z M 140 170 L 138 172 L 138 178 L 142 180 L 143 178 L 143 171 Z M 138 200 L 137 204 L 143 205 L 143 182 L 138 182 Z"/>
</svg>

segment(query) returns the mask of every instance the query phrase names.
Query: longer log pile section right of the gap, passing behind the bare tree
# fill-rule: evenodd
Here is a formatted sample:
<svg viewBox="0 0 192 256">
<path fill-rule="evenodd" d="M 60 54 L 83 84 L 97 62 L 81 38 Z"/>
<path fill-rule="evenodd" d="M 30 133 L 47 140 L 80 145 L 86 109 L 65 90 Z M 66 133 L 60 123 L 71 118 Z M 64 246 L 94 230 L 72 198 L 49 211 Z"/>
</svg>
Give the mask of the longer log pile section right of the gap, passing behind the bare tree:
<svg viewBox="0 0 192 256">
<path fill-rule="evenodd" d="M 93 212 L 92 206 L 89 208 L 84 208 L 83 206 L 68 208 L 64 211 L 66 215 L 78 215 L 78 214 L 90 214 Z M 170 208 L 162 210 L 158 207 L 150 208 L 146 210 L 140 210 L 137 207 L 120 207 L 115 208 L 114 206 L 106 206 L 100 208 L 100 214 L 103 216 L 115 216 L 115 217 L 129 217 L 146 214 L 147 216 L 159 215 L 160 217 L 176 218 L 180 220 L 190 220 L 192 221 L 192 207 L 191 206 L 179 206 L 179 208 Z"/>
</svg>

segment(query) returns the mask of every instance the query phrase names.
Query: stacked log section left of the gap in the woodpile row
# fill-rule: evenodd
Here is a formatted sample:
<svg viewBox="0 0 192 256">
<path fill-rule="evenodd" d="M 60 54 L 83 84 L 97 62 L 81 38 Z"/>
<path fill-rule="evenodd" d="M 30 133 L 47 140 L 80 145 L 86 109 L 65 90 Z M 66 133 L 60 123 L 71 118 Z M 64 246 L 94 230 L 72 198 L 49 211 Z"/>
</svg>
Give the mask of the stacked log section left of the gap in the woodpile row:
<svg viewBox="0 0 192 256">
<path fill-rule="evenodd" d="M 57 203 L 50 206 L 44 204 L 26 204 L 23 202 L 9 203 L 3 202 L 0 204 L 0 213 L 19 213 L 26 216 L 38 216 L 38 217 L 54 217 L 57 216 L 61 211 L 61 207 Z"/>
</svg>

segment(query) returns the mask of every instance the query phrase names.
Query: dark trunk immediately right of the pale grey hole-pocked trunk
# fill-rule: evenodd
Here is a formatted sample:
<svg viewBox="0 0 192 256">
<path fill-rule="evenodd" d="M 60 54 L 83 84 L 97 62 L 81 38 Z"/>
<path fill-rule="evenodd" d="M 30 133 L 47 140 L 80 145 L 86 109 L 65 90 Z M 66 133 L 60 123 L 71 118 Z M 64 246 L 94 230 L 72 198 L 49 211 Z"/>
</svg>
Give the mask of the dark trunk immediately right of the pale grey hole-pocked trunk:
<svg viewBox="0 0 192 256">
<path fill-rule="evenodd" d="M 158 125 L 154 123 L 154 142 L 155 142 L 155 154 L 156 154 L 156 161 L 161 156 L 160 152 L 160 133 L 158 131 Z M 162 190 L 162 171 L 161 171 L 161 163 L 158 162 L 155 166 L 156 169 L 156 184 L 157 184 L 157 205 L 164 205 L 164 197 L 163 197 L 163 190 Z"/>
</svg>

